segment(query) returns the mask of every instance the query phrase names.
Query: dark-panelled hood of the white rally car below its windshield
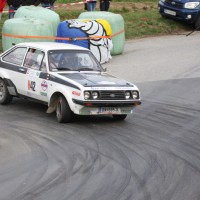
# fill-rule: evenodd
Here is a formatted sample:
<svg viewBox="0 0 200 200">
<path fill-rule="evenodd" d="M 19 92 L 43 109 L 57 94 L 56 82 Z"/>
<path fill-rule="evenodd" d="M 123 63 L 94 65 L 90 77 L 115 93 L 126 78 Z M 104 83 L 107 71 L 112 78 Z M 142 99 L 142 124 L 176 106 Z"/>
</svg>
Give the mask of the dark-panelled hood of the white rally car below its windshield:
<svg viewBox="0 0 200 200">
<path fill-rule="evenodd" d="M 127 87 L 127 86 L 133 86 L 133 84 L 118 79 L 112 75 L 109 75 L 107 73 L 73 73 L 73 74 L 59 74 L 61 76 L 64 76 L 68 79 L 71 79 L 73 81 L 78 82 L 79 84 L 85 86 L 85 87 L 95 87 L 95 86 L 120 86 L 120 87 Z"/>
</svg>

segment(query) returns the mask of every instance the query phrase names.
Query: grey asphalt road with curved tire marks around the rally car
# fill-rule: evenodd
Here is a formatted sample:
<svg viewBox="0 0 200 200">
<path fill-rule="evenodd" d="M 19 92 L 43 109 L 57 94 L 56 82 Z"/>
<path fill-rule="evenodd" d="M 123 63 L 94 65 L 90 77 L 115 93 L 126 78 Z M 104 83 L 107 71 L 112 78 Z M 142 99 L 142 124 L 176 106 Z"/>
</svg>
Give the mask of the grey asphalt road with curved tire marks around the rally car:
<svg viewBox="0 0 200 200">
<path fill-rule="evenodd" d="M 104 65 L 141 90 L 123 122 L 0 106 L 0 200 L 199 200 L 199 49 L 199 33 L 127 41 Z"/>
</svg>

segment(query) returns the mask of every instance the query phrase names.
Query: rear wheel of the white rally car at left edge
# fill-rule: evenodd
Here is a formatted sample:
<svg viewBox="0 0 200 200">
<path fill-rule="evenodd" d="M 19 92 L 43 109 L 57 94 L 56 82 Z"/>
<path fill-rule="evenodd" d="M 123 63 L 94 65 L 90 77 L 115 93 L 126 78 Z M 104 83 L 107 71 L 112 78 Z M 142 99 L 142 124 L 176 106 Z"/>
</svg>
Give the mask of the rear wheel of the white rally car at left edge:
<svg viewBox="0 0 200 200">
<path fill-rule="evenodd" d="M 3 79 L 0 79 L 0 104 L 10 104 L 13 96 L 9 94 L 8 88 Z"/>
</svg>

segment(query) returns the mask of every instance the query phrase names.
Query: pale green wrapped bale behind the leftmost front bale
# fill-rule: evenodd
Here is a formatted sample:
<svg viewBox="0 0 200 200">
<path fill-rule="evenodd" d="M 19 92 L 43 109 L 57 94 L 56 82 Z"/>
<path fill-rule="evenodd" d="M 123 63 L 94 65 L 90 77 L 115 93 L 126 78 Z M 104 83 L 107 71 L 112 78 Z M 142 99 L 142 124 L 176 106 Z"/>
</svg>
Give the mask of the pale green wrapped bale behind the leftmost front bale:
<svg viewBox="0 0 200 200">
<path fill-rule="evenodd" d="M 56 12 L 40 6 L 21 6 L 17 9 L 14 17 L 44 19 L 49 21 L 52 23 L 54 36 L 56 36 L 57 27 L 60 23 L 60 17 Z"/>
</svg>

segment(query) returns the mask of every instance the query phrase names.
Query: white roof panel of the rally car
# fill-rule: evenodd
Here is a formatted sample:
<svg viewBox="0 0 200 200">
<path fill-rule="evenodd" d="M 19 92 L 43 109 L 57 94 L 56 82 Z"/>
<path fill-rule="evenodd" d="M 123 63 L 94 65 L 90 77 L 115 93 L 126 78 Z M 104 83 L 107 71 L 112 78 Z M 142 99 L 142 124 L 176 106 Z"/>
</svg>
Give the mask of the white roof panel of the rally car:
<svg viewBox="0 0 200 200">
<path fill-rule="evenodd" d="M 80 47 L 74 44 L 58 43 L 58 42 L 24 42 L 19 43 L 16 46 L 27 46 L 32 48 L 39 48 L 43 50 L 88 50 L 84 47 Z"/>
</svg>

